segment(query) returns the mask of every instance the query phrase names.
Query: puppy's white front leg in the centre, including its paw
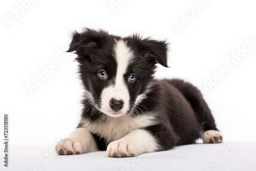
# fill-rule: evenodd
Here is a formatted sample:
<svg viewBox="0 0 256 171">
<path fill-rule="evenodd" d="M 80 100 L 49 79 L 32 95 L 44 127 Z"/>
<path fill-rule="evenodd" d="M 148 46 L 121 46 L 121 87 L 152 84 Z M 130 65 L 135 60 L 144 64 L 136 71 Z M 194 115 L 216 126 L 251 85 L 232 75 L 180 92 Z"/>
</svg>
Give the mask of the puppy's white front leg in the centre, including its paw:
<svg viewBox="0 0 256 171">
<path fill-rule="evenodd" d="M 134 157 L 155 152 L 158 144 L 154 136 L 145 130 L 135 130 L 123 138 L 111 142 L 106 148 L 109 157 Z"/>
</svg>

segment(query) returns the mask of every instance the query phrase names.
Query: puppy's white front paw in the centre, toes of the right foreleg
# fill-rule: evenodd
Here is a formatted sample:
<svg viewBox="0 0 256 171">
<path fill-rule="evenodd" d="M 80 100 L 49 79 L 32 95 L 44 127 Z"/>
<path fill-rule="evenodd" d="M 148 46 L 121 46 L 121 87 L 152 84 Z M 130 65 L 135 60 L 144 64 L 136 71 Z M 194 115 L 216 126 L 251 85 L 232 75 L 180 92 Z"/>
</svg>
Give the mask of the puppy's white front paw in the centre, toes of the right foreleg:
<svg viewBox="0 0 256 171">
<path fill-rule="evenodd" d="M 139 155 L 134 144 L 123 140 L 111 142 L 106 148 L 106 153 L 109 157 L 135 157 Z"/>
</svg>

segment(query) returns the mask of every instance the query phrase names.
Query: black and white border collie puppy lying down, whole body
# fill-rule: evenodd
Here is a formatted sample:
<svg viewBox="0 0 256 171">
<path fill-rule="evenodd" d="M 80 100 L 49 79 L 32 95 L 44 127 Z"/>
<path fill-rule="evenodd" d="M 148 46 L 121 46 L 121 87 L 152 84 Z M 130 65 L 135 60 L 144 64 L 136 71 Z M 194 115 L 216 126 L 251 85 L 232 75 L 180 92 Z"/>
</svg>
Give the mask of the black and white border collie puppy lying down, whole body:
<svg viewBox="0 0 256 171">
<path fill-rule="evenodd" d="M 165 41 L 84 29 L 74 32 L 67 52 L 73 51 L 86 90 L 84 108 L 77 129 L 57 143 L 58 154 L 106 150 L 109 157 L 132 157 L 201 137 L 204 143 L 222 142 L 196 87 L 154 79 L 156 63 L 168 67 Z"/>
</svg>

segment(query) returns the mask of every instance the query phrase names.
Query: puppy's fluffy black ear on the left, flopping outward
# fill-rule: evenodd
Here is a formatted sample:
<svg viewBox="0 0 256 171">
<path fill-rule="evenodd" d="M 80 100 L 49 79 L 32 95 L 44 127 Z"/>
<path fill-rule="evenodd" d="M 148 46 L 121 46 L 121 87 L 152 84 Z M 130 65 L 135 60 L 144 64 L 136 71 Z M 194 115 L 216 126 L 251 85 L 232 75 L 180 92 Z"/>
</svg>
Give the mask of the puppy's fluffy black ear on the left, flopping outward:
<svg viewBox="0 0 256 171">
<path fill-rule="evenodd" d="M 82 33 L 74 32 L 69 50 L 67 52 L 76 51 L 76 54 L 90 53 L 95 48 L 103 45 L 108 32 L 103 30 L 93 30 L 85 28 Z"/>
</svg>

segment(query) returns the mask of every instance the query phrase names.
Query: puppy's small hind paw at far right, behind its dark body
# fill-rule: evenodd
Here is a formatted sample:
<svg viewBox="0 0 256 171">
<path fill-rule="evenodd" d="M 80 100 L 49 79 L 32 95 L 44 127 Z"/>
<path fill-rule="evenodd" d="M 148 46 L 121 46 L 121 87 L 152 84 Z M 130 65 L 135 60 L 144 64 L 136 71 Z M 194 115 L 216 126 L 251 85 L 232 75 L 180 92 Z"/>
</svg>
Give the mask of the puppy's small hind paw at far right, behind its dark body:
<svg viewBox="0 0 256 171">
<path fill-rule="evenodd" d="M 209 130 L 203 134 L 204 143 L 222 143 L 222 136 L 219 131 Z"/>
</svg>

